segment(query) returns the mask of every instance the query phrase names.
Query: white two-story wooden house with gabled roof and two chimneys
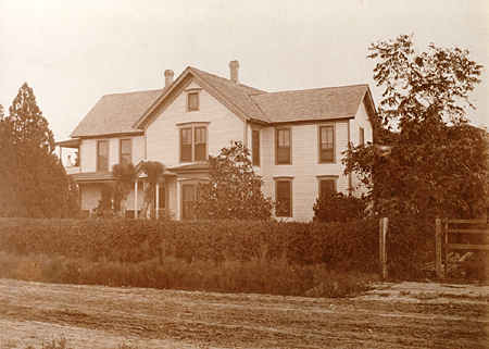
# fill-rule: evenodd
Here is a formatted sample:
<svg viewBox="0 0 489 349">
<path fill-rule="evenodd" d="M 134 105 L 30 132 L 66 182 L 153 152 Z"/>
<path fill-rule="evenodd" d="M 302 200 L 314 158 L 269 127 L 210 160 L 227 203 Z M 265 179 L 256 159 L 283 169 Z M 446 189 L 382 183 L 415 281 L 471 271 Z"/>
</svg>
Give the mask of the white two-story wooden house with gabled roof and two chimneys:
<svg viewBox="0 0 489 349">
<path fill-rule="evenodd" d="M 239 83 L 239 63 L 230 78 L 187 67 L 176 79 L 165 71 L 160 90 L 103 96 L 60 147 L 77 148 L 82 208 L 98 205 L 102 184 L 113 179 L 114 164 L 159 161 L 164 180 L 154 198 L 156 210 L 176 220 L 196 187 L 209 178 L 206 159 L 231 140 L 252 154 L 263 191 L 279 203 L 277 217 L 309 221 L 324 190 L 344 194 L 358 184 L 343 175 L 342 152 L 349 142 L 372 141 L 375 105 L 367 85 L 265 92 Z M 126 202 L 128 214 L 141 210 L 145 175 L 138 172 Z"/>
</svg>

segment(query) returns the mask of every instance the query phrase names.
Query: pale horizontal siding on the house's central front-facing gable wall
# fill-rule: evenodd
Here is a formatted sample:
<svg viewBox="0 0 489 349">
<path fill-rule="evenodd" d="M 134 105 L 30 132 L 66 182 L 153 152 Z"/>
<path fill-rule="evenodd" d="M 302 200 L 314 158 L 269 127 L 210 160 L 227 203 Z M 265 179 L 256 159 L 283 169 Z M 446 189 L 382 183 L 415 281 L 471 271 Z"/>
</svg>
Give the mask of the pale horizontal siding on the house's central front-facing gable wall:
<svg viewBox="0 0 489 349">
<path fill-rule="evenodd" d="M 191 83 L 188 89 L 200 88 Z M 178 124 L 209 123 L 208 153 L 217 155 L 231 140 L 243 141 L 244 122 L 221 104 L 204 89 L 200 90 L 199 110 L 187 112 L 186 92 L 181 92 L 147 129 L 147 159 L 176 166 L 178 159 Z"/>
</svg>

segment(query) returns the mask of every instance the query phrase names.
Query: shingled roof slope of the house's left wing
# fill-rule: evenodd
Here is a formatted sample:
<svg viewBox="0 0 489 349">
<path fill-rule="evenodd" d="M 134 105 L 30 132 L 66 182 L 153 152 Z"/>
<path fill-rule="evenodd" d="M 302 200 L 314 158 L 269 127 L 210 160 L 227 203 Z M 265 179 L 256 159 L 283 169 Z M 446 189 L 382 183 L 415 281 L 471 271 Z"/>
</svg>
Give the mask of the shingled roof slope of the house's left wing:
<svg viewBox="0 0 489 349">
<path fill-rule="evenodd" d="M 92 137 L 141 133 L 133 124 L 163 94 L 163 89 L 103 96 L 70 135 Z"/>
</svg>

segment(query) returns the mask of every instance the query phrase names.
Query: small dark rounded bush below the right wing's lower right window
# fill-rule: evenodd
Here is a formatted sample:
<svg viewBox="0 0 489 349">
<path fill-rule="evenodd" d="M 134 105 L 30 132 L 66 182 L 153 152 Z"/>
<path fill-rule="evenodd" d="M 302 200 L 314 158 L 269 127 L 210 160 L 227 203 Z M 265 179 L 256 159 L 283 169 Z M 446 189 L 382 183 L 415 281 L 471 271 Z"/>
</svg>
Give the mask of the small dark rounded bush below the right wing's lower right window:
<svg viewBox="0 0 489 349">
<path fill-rule="evenodd" d="M 366 215 L 366 205 L 367 200 L 363 196 L 356 198 L 333 190 L 326 191 L 321 198 L 316 199 L 313 207 L 313 220 L 323 223 L 346 223 L 363 219 Z"/>
</svg>

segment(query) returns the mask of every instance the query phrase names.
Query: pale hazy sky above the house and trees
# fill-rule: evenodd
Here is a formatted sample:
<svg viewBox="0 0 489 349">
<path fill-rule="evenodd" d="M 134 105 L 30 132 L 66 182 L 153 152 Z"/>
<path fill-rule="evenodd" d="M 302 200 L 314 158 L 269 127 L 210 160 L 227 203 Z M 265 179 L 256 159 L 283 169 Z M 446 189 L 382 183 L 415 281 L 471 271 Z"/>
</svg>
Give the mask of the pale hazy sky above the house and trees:
<svg viewBox="0 0 489 349">
<path fill-rule="evenodd" d="M 414 33 L 485 66 L 467 115 L 489 126 L 487 0 L 0 0 L 0 103 L 27 82 L 57 140 L 106 94 L 158 89 L 186 66 L 267 91 L 369 84 L 371 42 Z"/>
</svg>

